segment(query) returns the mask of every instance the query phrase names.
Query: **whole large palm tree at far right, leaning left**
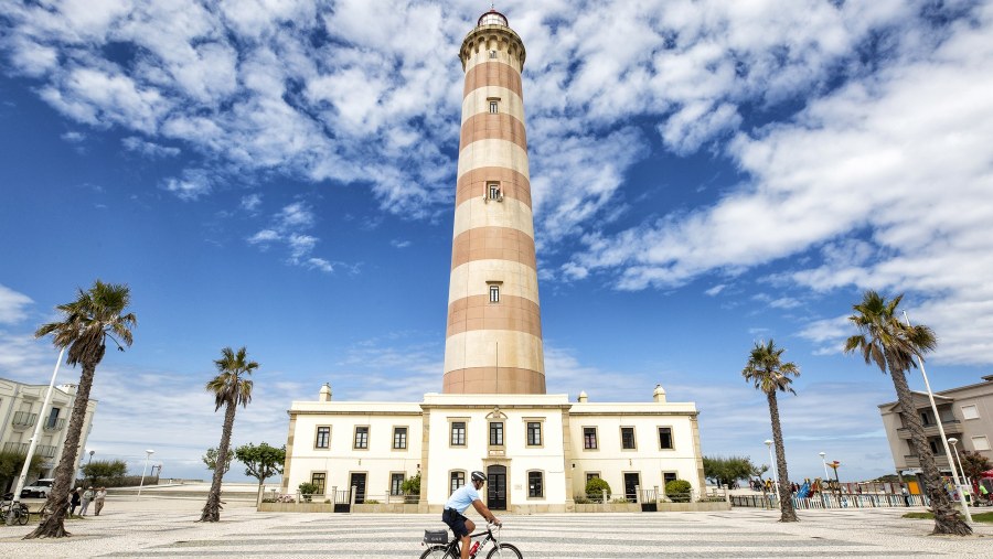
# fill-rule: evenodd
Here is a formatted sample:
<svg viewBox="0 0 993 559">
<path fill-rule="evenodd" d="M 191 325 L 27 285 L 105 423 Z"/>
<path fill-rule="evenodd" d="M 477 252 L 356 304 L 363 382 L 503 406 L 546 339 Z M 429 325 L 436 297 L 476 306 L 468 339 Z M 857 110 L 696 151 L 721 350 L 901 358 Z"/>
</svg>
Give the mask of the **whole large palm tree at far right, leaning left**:
<svg viewBox="0 0 993 559">
<path fill-rule="evenodd" d="M 917 408 L 914 407 L 914 397 L 904 375 L 910 367 L 917 366 L 914 363 L 915 356 L 922 358 L 922 355 L 933 350 L 938 342 L 935 332 L 928 326 L 922 324 L 911 326 L 900 322 L 897 307 L 903 298 L 900 294 L 887 301 L 875 291 L 866 291 L 862 302 L 852 307 L 855 314 L 848 316 L 848 320 L 858 329 L 858 334 L 845 342 L 845 353 L 858 350 L 866 364 L 875 363 L 883 374 L 889 370 L 900 404 L 904 427 L 910 431 L 910 441 L 917 450 L 923 471 L 925 485 L 931 499 L 931 509 L 935 512 L 933 534 L 967 536 L 972 534 L 972 528 L 959 516 L 948 498 L 948 493 L 940 484 L 938 465 L 928 447 L 928 438 L 920 424 Z M 940 421 L 940 418 L 938 420 Z"/>
</svg>

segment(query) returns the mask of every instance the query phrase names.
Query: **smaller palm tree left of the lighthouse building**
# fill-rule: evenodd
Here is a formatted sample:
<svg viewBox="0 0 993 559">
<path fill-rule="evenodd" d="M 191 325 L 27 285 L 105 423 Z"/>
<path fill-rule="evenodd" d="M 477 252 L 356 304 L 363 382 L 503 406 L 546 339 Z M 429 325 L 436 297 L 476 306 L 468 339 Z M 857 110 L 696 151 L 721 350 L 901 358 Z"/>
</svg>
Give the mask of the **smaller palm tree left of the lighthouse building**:
<svg viewBox="0 0 993 559">
<path fill-rule="evenodd" d="M 231 347 L 221 350 L 222 357 L 214 362 L 218 375 L 206 384 L 206 390 L 214 394 L 214 411 L 226 406 L 224 410 L 224 428 L 221 431 L 221 445 L 217 447 L 217 462 L 225 464 L 227 453 L 231 452 L 231 430 L 234 428 L 234 413 L 238 404 L 248 406 L 252 401 L 252 380 L 244 378 L 258 368 L 258 363 L 248 361 L 245 348 L 237 353 Z M 211 493 L 200 515 L 202 523 L 216 523 L 221 519 L 221 479 L 224 477 L 224 469 L 215 467 L 214 477 L 211 481 Z"/>
</svg>

